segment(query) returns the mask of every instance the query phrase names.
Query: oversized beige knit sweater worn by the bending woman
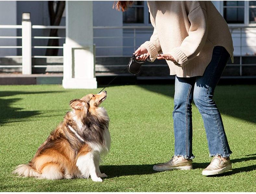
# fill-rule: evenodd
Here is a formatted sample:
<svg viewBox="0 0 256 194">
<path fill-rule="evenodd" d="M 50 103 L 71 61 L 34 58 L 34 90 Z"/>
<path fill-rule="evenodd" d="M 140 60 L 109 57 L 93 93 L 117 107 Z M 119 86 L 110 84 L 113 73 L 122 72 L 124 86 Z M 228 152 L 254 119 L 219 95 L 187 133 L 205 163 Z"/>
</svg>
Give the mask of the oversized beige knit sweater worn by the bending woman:
<svg viewBox="0 0 256 194">
<path fill-rule="evenodd" d="M 230 31 L 211 1 L 148 1 L 148 7 L 154 31 L 141 46 L 151 62 L 159 53 L 171 54 L 176 62 L 167 60 L 170 75 L 203 75 L 214 46 L 226 48 L 233 62 Z"/>
</svg>

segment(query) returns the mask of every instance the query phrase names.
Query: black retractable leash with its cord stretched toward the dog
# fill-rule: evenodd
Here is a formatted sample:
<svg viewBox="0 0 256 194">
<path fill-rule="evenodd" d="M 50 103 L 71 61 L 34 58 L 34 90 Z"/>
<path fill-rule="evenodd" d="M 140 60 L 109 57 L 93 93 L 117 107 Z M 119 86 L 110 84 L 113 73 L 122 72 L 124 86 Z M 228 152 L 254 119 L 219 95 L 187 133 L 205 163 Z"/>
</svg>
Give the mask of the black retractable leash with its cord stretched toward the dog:
<svg viewBox="0 0 256 194">
<path fill-rule="evenodd" d="M 137 61 L 137 60 L 136 60 L 136 57 L 138 57 L 138 56 L 133 55 L 133 56 L 130 58 L 130 61 L 129 61 L 129 63 L 128 63 L 128 66 L 125 67 L 125 69 L 123 69 L 122 71 L 120 71 L 120 72 L 116 75 L 116 77 L 117 77 L 118 75 L 120 75 L 120 73 L 122 73 L 124 70 L 126 70 L 126 68 L 128 69 L 129 73 L 131 73 L 131 74 L 134 74 L 134 75 L 135 75 L 135 74 L 139 73 L 139 72 L 140 72 L 140 67 L 141 67 L 141 65 L 142 65 L 143 63 L 145 63 L 146 61 Z M 111 80 L 99 93 L 101 93 L 112 81 L 114 81 L 114 80 L 116 79 L 116 77 L 114 77 L 114 79 Z"/>
</svg>

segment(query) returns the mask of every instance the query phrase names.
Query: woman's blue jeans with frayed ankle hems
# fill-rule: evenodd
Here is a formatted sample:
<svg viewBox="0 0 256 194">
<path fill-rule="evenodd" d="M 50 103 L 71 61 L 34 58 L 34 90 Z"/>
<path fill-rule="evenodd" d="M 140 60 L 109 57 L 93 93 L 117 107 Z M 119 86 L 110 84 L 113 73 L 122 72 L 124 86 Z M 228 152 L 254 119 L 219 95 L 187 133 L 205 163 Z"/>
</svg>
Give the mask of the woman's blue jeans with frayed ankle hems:
<svg viewBox="0 0 256 194">
<path fill-rule="evenodd" d="M 192 101 L 203 118 L 210 156 L 228 157 L 232 153 L 220 112 L 213 101 L 214 89 L 229 56 L 224 47 L 216 46 L 212 60 L 202 76 L 176 76 L 173 111 L 175 156 L 183 156 L 186 159 L 195 157 L 192 153 Z"/>
</svg>

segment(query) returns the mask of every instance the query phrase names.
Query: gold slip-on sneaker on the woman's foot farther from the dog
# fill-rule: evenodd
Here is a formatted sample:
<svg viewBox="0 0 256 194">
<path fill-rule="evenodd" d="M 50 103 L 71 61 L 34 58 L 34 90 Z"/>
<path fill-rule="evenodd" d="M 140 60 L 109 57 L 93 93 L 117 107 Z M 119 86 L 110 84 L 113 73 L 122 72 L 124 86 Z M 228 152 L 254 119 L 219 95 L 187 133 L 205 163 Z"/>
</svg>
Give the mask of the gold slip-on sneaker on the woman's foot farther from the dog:
<svg viewBox="0 0 256 194">
<path fill-rule="evenodd" d="M 217 175 L 232 169 L 230 159 L 222 160 L 214 156 L 211 164 L 202 171 L 202 175 Z"/>
</svg>

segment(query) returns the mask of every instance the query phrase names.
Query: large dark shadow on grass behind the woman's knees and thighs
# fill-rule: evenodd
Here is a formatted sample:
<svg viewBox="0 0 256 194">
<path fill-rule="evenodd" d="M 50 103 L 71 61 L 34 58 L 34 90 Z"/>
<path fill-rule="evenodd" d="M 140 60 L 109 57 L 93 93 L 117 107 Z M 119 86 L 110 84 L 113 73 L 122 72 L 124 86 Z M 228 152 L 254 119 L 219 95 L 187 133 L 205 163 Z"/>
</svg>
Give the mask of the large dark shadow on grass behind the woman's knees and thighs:
<svg viewBox="0 0 256 194">
<path fill-rule="evenodd" d="M 174 98 L 174 85 L 139 85 L 151 92 L 161 93 Z M 221 113 L 226 115 L 256 123 L 255 96 L 254 86 L 234 85 L 216 87 L 214 101 L 216 102 Z M 232 99 L 232 102 L 231 102 Z M 192 109 L 196 106 L 193 104 Z M 193 111 L 193 110 L 192 110 Z"/>
</svg>

